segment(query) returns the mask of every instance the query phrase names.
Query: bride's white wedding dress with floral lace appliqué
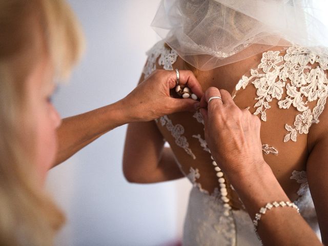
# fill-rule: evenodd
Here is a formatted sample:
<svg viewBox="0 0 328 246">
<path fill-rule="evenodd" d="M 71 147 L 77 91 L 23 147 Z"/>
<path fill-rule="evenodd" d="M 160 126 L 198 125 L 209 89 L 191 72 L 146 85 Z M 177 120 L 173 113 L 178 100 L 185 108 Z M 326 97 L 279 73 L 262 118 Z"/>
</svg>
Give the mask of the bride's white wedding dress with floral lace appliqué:
<svg viewBox="0 0 328 246">
<path fill-rule="evenodd" d="M 172 65 L 178 57 L 174 50 L 165 47 L 163 41 L 158 42 L 147 54 L 148 62 L 144 69 L 145 77 L 156 69 L 156 63 L 162 66 L 163 69 L 172 70 Z M 308 66 L 308 64 L 313 65 L 314 63 L 318 63 L 319 66 L 317 68 Z M 304 69 L 309 69 L 309 72 L 305 73 Z M 261 64 L 258 65 L 257 70 L 251 71 L 252 75 L 250 77 L 242 76 L 236 90 L 244 89 L 251 84 L 257 88 L 257 96 L 259 97 L 258 103 L 254 107 L 258 108 L 254 114 L 259 114 L 264 121 L 267 120 L 265 111 L 270 108 L 265 106 L 268 106 L 272 98 L 280 99 L 278 105 L 281 109 L 293 105 L 301 113 L 296 116 L 294 124 L 285 125 L 286 135 L 282 140 L 284 142 L 296 141 L 298 134 L 307 134 L 310 126 L 319 122 L 318 117 L 323 111 L 328 92 L 328 80 L 324 74 L 324 70 L 327 69 L 327 57 L 319 57 L 303 47 L 289 47 L 286 49 L 284 56 L 281 56 L 279 51 L 268 51 L 263 53 Z M 278 81 L 277 78 L 279 78 Z M 282 82 L 286 81 L 286 78 L 291 80 L 291 84 Z M 281 98 L 282 90 L 287 91 L 288 97 Z M 260 92 L 262 92 L 262 95 Z M 312 111 L 306 108 L 303 101 L 299 100 L 303 96 L 307 97 L 308 101 L 317 101 L 316 107 Z M 197 119 L 199 124 L 202 123 L 200 114 L 196 113 L 194 118 Z M 302 120 L 309 124 L 302 125 L 300 129 L 299 121 Z M 189 148 L 189 139 L 183 136 L 183 126 L 173 125 L 168 116 L 161 117 L 157 120 L 157 124 L 165 126 L 171 132 L 175 139 L 174 144 L 183 148 L 193 159 L 197 158 L 193 150 Z M 193 137 L 199 139 L 201 149 L 209 151 L 206 141 L 201 139 L 199 135 Z M 268 145 L 263 145 L 263 152 L 265 154 L 278 153 L 274 147 Z M 203 190 L 200 184 L 197 183 L 200 176 L 197 169 L 190 168 L 190 173 L 187 173 L 186 176 L 194 187 L 189 198 L 183 232 L 183 245 L 261 245 L 255 234 L 252 219 L 247 212 L 244 210 L 228 210 L 224 207 L 218 189 L 213 194 Z M 314 204 L 306 179 L 306 171 L 294 170 L 290 178 L 295 179 L 300 184 L 297 192 L 299 198 L 294 202 L 299 207 L 300 214 L 320 238 Z"/>
</svg>

